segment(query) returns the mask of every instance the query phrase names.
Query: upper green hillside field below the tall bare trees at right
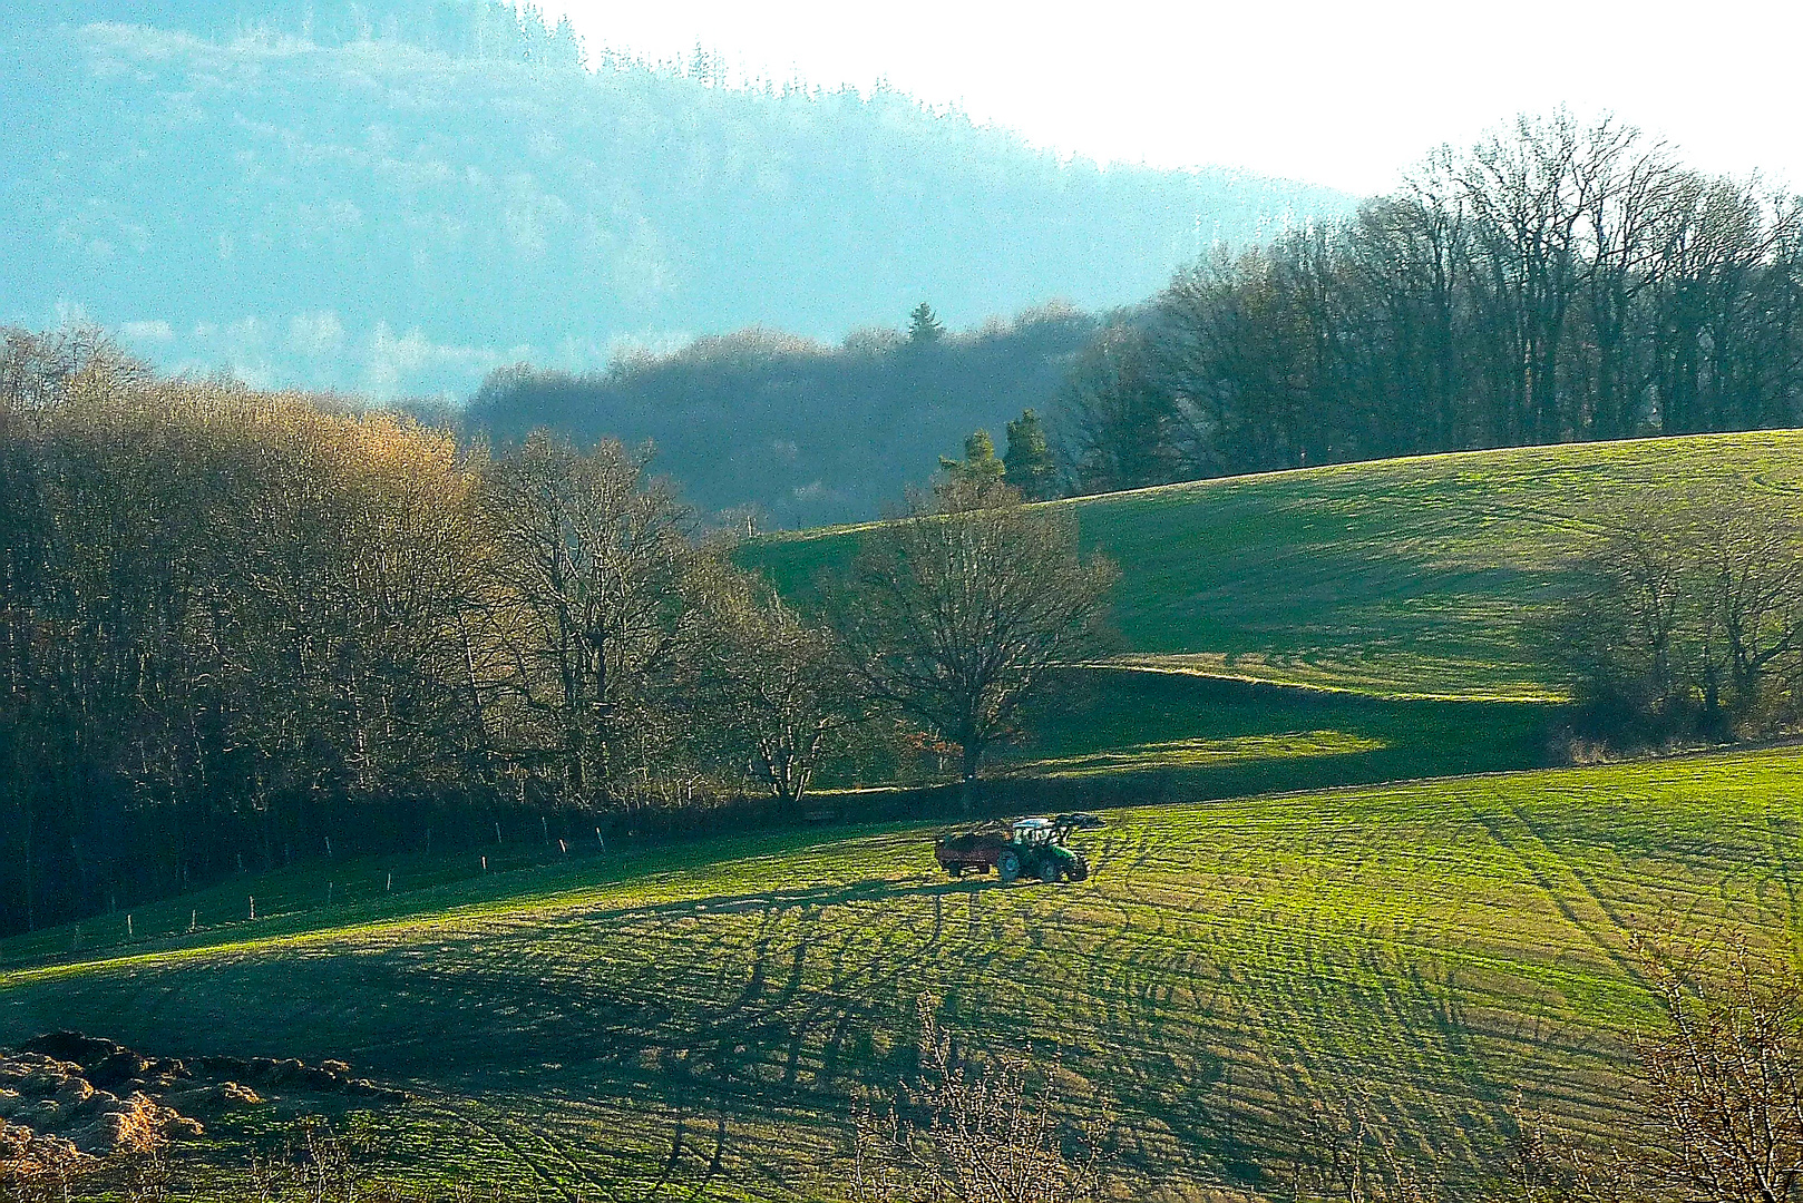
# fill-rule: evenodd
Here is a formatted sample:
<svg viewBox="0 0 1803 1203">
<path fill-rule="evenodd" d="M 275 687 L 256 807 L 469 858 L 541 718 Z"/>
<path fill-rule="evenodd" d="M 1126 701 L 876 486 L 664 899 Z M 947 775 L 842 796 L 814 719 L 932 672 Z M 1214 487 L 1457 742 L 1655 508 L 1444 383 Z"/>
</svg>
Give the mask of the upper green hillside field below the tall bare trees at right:
<svg viewBox="0 0 1803 1203">
<path fill-rule="evenodd" d="M 1587 539 L 1693 489 L 1803 494 L 1803 431 L 1469 451 L 1053 505 L 1121 565 L 1123 662 L 1385 696 L 1563 691 L 1536 617 Z M 858 527 L 746 552 L 797 595 Z"/>
</svg>

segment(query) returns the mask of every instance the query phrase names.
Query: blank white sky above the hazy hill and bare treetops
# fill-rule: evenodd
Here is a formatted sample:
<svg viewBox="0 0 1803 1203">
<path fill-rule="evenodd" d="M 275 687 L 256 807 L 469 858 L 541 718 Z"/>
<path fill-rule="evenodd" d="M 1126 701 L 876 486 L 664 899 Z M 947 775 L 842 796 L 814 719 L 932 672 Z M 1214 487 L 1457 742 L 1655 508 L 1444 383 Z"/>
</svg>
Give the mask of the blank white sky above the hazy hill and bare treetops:
<svg viewBox="0 0 1803 1203">
<path fill-rule="evenodd" d="M 1441 142 L 1565 105 L 1695 168 L 1803 188 L 1803 0 L 856 4 L 539 0 L 590 47 L 869 88 L 1102 162 L 1381 193 Z"/>
</svg>

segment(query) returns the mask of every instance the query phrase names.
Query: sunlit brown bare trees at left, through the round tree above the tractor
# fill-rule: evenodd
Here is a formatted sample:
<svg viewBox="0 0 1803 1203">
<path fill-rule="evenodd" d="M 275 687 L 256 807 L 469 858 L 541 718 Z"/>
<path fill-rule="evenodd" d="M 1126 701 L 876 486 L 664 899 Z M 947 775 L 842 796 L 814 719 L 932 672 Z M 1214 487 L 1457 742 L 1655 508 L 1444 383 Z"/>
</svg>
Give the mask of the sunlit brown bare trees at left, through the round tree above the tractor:
<svg viewBox="0 0 1803 1203">
<path fill-rule="evenodd" d="M 801 613 L 644 449 L 494 453 L 79 330 L 5 332 L 0 546 L 5 929 L 279 864 L 321 815 L 418 848 L 445 813 L 795 806 L 905 732 L 974 781 L 1112 579 L 948 482 Z"/>
</svg>

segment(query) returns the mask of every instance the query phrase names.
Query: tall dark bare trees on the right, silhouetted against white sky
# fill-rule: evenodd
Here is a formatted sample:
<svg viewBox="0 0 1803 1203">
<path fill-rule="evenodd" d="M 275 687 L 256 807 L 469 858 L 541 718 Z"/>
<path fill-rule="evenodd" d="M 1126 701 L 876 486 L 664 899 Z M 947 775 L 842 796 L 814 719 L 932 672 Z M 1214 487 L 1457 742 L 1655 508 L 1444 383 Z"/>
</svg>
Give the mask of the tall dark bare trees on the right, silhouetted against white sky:
<svg viewBox="0 0 1803 1203">
<path fill-rule="evenodd" d="M 1803 198 L 1558 112 L 1179 272 L 1087 346 L 1057 426 L 1094 492 L 1799 415 Z"/>
</svg>

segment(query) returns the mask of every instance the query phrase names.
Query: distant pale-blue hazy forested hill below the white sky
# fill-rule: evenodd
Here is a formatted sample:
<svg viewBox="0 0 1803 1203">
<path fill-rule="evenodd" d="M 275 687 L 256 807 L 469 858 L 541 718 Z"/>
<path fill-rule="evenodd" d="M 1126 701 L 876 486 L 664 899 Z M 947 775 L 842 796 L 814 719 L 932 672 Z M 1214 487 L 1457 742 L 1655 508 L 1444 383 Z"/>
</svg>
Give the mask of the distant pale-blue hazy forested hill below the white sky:
<svg viewBox="0 0 1803 1203">
<path fill-rule="evenodd" d="M 1199 114 L 1197 119 L 1208 119 Z M 1098 170 L 892 92 L 723 87 L 492 0 L 0 16 L 0 321 L 377 397 L 750 325 L 1127 303 L 1338 193 Z M 847 399 L 847 404 L 855 404 Z"/>
</svg>

